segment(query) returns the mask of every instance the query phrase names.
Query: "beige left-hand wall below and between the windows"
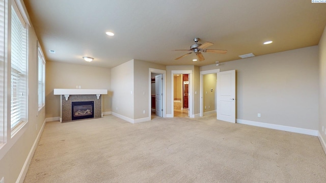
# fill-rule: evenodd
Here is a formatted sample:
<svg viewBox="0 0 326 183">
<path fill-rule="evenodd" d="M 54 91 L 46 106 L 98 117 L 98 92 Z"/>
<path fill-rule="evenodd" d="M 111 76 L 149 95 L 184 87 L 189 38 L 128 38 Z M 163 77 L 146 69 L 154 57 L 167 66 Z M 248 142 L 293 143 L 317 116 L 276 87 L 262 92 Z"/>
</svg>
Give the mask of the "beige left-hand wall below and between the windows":
<svg viewBox="0 0 326 183">
<path fill-rule="evenodd" d="M 4 177 L 5 182 L 16 182 L 19 173 L 27 170 L 23 169 L 23 165 L 28 158 L 32 158 L 28 155 L 45 123 L 45 108 L 38 111 L 37 37 L 33 25 L 29 27 L 28 38 L 28 124 L 13 138 L 8 138 L 7 143 L 0 149 L 0 178 Z"/>
</svg>

